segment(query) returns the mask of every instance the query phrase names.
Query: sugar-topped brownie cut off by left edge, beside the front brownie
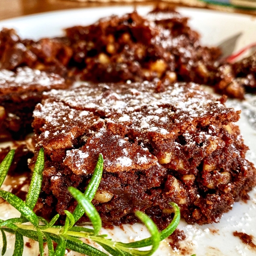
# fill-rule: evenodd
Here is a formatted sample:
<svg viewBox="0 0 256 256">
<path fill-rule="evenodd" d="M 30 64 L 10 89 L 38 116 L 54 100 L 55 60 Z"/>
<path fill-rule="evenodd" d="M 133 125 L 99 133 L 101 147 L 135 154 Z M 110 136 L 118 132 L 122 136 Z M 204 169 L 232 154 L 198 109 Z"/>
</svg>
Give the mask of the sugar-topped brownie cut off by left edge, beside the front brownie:
<svg viewBox="0 0 256 256">
<path fill-rule="evenodd" d="M 18 140 L 32 132 L 32 112 L 42 92 L 68 86 L 59 75 L 29 67 L 0 70 L 0 140 Z"/>
</svg>

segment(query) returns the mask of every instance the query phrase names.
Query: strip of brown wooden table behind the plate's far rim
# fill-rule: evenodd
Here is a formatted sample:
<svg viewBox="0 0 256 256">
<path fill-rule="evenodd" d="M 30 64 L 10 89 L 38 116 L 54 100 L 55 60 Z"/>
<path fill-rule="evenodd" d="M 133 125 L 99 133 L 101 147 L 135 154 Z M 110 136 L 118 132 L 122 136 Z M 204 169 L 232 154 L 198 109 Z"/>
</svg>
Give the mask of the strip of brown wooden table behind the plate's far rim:
<svg viewBox="0 0 256 256">
<path fill-rule="evenodd" d="M 106 2 L 108 0 L 102 0 L 102 2 L 96 1 L 71 1 L 71 0 L 0 0 L 0 20 L 18 17 L 23 15 L 29 15 L 39 12 L 49 12 L 55 10 L 72 9 L 72 8 L 90 8 L 96 6 L 116 6 L 120 5 L 118 2 Z M 131 0 L 130 0 L 131 1 Z M 190 6 L 192 8 L 207 8 L 217 9 L 225 12 L 239 12 L 256 16 L 256 10 L 250 9 L 234 9 L 232 7 L 210 5 L 200 0 L 165 0 L 164 4 L 172 6 Z M 145 4 L 157 4 L 158 0 L 143 1 L 143 2 L 122 2 L 122 5 L 145 5 Z"/>
</svg>

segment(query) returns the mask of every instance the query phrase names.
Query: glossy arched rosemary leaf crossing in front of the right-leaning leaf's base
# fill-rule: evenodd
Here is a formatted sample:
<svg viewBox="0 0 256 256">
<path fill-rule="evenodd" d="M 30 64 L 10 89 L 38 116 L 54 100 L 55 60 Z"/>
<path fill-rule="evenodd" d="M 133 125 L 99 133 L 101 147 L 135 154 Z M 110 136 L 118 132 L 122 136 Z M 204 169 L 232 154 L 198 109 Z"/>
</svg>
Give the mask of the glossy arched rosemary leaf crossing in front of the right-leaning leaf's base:
<svg viewBox="0 0 256 256">
<path fill-rule="evenodd" d="M 75 198 L 76 201 L 84 208 L 84 211 L 86 212 L 87 216 L 93 224 L 94 234 L 97 235 L 102 227 L 102 221 L 99 213 L 81 191 L 74 187 L 69 187 L 68 190 L 71 195 L 73 195 L 73 198 Z"/>
</svg>

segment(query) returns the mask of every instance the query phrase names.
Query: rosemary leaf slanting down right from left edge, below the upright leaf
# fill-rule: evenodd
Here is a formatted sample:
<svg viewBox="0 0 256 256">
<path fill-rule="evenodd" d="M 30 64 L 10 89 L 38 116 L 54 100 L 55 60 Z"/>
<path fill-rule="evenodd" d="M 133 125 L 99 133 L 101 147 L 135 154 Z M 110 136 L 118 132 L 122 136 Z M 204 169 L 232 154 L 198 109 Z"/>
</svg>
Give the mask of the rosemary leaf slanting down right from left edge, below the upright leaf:
<svg viewBox="0 0 256 256">
<path fill-rule="evenodd" d="M 15 207 L 26 219 L 28 219 L 33 225 L 38 226 L 39 220 L 35 212 L 30 209 L 25 202 L 23 202 L 16 195 L 13 195 L 7 191 L 0 191 L 0 196 L 6 200 L 9 204 Z"/>
</svg>

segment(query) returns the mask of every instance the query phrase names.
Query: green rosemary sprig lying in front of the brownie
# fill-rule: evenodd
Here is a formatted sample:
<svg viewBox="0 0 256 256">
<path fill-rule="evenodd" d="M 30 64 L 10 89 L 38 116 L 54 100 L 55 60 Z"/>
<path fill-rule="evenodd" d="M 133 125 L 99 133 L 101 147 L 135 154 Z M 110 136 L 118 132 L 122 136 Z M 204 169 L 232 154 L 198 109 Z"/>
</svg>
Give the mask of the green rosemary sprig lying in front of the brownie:
<svg viewBox="0 0 256 256">
<path fill-rule="evenodd" d="M 3 184 L 8 173 L 14 153 L 14 150 L 10 151 L 0 164 L 0 185 Z M 160 241 L 174 232 L 180 221 L 180 210 L 177 204 L 171 203 L 174 209 L 174 218 L 169 226 L 162 232 L 158 231 L 157 226 L 145 213 L 139 211 L 135 213 L 137 218 L 140 219 L 151 234 L 151 237 L 147 239 L 132 243 L 122 243 L 109 239 L 107 235 L 99 235 L 99 231 L 102 228 L 102 221 L 99 213 L 91 203 L 98 189 L 103 172 L 103 157 L 102 154 L 99 154 L 93 176 L 84 194 L 74 187 L 68 188 L 71 195 L 73 195 L 78 202 L 78 205 L 73 213 L 65 211 L 67 216 L 63 227 L 56 226 L 54 224 L 59 218 L 58 214 L 48 222 L 44 218 L 37 216 L 33 211 L 41 191 L 43 169 L 44 150 L 41 148 L 35 163 L 35 169 L 25 202 L 10 192 L 0 190 L 0 196 L 21 213 L 20 218 L 11 218 L 6 221 L 0 220 L 0 231 L 3 239 L 2 255 L 6 253 L 7 232 L 15 234 L 13 256 L 22 255 L 24 236 L 38 241 L 41 256 L 44 255 L 44 243 L 47 243 L 49 256 L 64 256 L 66 249 L 83 253 L 87 256 L 107 256 L 106 253 L 84 243 L 81 240 L 82 238 L 96 242 L 112 256 L 150 256 L 157 250 Z M 92 228 L 74 226 L 76 221 L 78 221 L 84 213 L 86 213 L 90 219 Z M 30 222 L 30 224 L 24 224 L 25 222 Z M 41 224 L 41 222 L 43 224 Z M 55 250 L 53 242 L 57 243 Z M 148 246 L 151 246 L 150 250 L 138 250 Z"/>
</svg>

